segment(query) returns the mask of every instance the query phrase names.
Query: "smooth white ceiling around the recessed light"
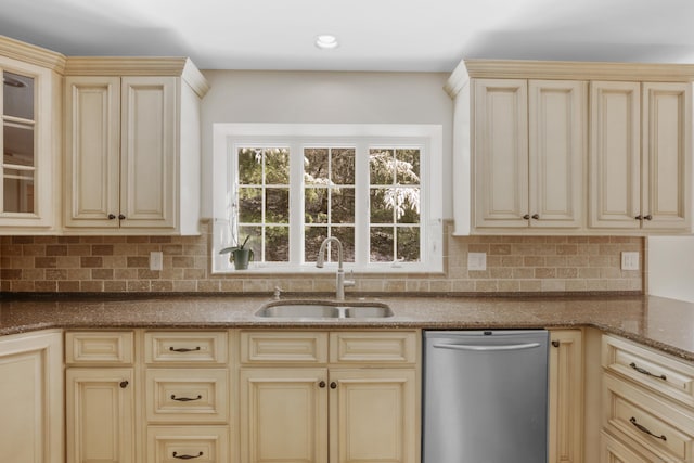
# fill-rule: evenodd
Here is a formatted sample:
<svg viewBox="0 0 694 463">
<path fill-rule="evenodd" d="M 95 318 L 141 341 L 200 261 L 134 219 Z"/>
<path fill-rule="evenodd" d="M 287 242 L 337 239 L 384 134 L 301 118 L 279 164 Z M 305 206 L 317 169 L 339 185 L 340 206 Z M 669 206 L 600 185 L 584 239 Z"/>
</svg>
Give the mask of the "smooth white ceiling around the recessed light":
<svg viewBox="0 0 694 463">
<path fill-rule="evenodd" d="M 319 50 L 319 34 L 340 46 Z M 694 63 L 694 0 L 0 0 L 0 34 L 203 69 L 449 72 L 461 59 Z"/>
</svg>

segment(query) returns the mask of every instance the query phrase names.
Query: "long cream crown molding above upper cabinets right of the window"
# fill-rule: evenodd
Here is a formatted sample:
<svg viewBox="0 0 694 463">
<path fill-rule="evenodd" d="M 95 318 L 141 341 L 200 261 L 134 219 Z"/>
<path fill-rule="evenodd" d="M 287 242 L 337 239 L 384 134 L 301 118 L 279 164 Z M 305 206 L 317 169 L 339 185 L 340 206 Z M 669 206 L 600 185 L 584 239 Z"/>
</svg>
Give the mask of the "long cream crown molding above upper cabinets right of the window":
<svg viewBox="0 0 694 463">
<path fill-rule="evenodd" d="M 474 78 L 694 81 L 692 64 L 608 63 L 580 61 L 465 60 L 453 70 L 445 89 L 455 97 Z"/>
</svg>

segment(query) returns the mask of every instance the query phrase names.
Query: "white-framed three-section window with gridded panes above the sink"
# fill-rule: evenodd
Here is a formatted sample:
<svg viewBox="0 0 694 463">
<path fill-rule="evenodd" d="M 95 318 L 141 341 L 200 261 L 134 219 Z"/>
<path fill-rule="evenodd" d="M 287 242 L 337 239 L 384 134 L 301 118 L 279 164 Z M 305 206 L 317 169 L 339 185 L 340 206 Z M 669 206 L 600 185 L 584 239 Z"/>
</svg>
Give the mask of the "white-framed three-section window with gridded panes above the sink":
<svg viewBox="0 0 694 463">
<path fill-rule="evenodd" d="M 244 271 L 314 271 L 329 236 L 348 269 L 441 271 L 440 126 L 217 124 L 214 132 L 215 272 L 233 271 L 218 252 L 246 236 L 255 257 Z"/>
</svg>

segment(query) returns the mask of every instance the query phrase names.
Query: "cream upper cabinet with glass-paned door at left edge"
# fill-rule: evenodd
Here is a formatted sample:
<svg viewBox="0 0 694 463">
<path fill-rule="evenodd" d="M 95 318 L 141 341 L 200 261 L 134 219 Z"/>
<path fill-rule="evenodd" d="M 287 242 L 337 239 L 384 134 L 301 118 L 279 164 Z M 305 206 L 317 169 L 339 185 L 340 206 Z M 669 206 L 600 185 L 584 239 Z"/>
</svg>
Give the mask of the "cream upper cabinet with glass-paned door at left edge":
<svg viewBox="0 0 694 463">
<path fill-rule="evenodd" d="M 59 53 L 0 37 L 0 234 L 59 229 L 64 62 Z"/>
</svg>

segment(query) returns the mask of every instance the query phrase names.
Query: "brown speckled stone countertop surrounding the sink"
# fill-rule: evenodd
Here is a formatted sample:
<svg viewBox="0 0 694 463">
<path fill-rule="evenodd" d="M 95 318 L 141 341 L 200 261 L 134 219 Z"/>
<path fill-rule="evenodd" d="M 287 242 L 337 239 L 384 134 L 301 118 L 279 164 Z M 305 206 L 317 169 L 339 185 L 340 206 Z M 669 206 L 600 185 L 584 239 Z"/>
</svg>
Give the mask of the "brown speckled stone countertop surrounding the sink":
<svg viewBox="0 0 694 463">
<path fill-rule="evenodd" d="M 314 299 L 309 295 L 287 300 Z M 593 326 L 694 361 L 694 304 L 655 296 L 368 297 L 384 319 L 255 317 L 268 296 L 22 297 L 0 300 L 0 335 L 44 329 L 527 329 Z"/>
</svg>

